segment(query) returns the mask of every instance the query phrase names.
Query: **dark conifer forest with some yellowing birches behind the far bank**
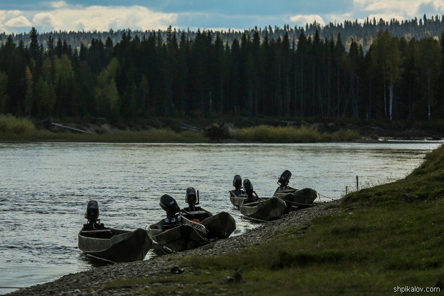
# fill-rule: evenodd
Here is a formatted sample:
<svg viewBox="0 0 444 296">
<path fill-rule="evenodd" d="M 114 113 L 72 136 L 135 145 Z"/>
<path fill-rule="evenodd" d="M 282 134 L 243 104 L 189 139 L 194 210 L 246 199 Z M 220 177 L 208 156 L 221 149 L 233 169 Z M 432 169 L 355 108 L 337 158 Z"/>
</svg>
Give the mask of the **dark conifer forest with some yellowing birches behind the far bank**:
<svg viewBox="0 0 444 296">
<path fill-rule="evenodd" d="M 310 30 L 310 28 L 308 28 Z M 444 33 L 380 30 L 367 50 L 319 30 L 253 30 L 232 41 L 171 27 L 74 47 L 33 28 L 0 47 L 0 113 L 93 116 L 444 118 Z"/>
</svg>

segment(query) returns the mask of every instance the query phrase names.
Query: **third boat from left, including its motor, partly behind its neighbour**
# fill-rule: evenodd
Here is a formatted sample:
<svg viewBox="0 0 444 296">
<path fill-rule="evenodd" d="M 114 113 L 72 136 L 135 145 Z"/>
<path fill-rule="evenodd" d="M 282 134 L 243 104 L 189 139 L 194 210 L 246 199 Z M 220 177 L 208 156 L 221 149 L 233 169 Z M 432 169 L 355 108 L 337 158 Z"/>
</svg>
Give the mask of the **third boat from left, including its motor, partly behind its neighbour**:
<svg viewBox="0 0 444 296">
<path fill-rule="evenodd" d="M 213 215 L 209 211 L 196 205 L 199 204 L 199 190 L 192 187 L 186 189 L 185 202 L 188 207 L 181 210 L 182 217 L 200 222 L 208 230 L 207 238 L 226 238 L 236 229 L 234 218 L 227 212 Z"/>
</svg>

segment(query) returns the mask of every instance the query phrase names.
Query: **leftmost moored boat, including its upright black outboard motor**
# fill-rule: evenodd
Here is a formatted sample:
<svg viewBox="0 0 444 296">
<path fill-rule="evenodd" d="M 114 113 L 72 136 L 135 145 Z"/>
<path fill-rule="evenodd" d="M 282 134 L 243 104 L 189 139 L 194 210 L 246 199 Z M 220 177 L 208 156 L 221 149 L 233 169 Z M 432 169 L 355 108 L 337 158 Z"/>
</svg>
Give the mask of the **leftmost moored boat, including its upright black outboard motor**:
<svg viewBox="0 0 444 296">
<path fill-rule="evenodd" d="M 134 231 L 105 227 L 100 223 L 99 205 L 91 200 L 85 213 L 88 219 L 78 233 L 78 248 L 88 256 L 112 262 L 143 260 L 152 240 L 145 229 Z"/>
</svg>

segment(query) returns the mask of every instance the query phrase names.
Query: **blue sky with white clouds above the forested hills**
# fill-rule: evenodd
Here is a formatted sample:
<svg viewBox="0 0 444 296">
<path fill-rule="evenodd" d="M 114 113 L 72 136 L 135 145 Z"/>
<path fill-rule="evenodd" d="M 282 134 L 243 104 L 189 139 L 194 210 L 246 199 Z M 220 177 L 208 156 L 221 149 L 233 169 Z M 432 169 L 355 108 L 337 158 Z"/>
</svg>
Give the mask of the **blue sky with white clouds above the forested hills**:
<svg viewBox="0 0 444 296">
<path fill-rule="evenodd" d="M 444 0 L 0 0 L 0 32 L 324 25 L 444 14 Z"/>
</svg>

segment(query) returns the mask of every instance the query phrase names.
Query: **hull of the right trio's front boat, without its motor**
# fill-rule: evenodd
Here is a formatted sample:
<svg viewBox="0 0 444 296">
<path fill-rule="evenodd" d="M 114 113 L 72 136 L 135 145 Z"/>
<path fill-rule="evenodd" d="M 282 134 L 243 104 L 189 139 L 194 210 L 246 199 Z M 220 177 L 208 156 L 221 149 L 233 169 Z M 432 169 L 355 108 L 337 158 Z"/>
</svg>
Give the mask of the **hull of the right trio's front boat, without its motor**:
<svg viewBox="0 0 444 296">
<path fill-rule="evenodd" d="M 239 210 L 243 215 L 251 219 L 270 221 L 281 218 L 287 210 L 287 205 L 280 198 L 270 198 L 255 206 L 240 206 Z"/>
</svg>

